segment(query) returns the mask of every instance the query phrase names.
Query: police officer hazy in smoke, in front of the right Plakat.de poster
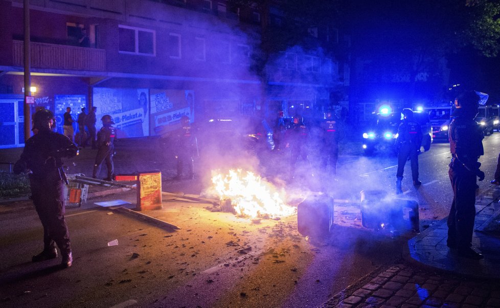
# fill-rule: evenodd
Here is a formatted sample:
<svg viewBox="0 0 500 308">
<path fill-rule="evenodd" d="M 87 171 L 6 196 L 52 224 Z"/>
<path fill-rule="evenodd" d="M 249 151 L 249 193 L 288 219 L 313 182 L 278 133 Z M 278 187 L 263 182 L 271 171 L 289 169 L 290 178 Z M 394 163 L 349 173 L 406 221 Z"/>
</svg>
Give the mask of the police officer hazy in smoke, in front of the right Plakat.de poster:
<svg viewBox="0 0 500 308">
<path fill-rule="evenodd" d="M 188 116 L 180 118 L 180 129 L 174 132 L 174 147 L 175 159 L 177 161 L 177 175 L 174 180 L 183 178 L 184 164 L 188 166 L 186 179 L 192 180 L 194 177 L 194 160 L 193 154 L 195 150 L 195 137 L 193 136 L 193 128 L 189 122 Z"/>
</svg>

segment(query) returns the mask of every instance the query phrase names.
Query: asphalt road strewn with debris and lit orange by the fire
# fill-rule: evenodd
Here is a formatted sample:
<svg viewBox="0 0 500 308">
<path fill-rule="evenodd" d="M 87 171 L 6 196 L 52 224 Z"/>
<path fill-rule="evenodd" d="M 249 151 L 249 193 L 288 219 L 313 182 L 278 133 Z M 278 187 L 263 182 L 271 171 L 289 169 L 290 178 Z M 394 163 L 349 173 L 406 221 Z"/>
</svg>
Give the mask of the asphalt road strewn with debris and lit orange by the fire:
<svg viewBox="0 0 500 308">
<path fill-rule="evenodd" d="M 500 134 L 484 140 L 481 159 L 492 178 Z M 419 157 L 422 186 L 411 183 L 409 163 L 404 196 L 419 201 L 421 226 L 447 215 L 451 189 L 447 178 L 449 145 L 433 144 Z M 284 161 L 279 158 L 277 161 Z M 283 168 L 267 158 L 272 174 Z M 42 229 L 29 202 L 0 206 L 0 305 L 2 307 L 316 307 L 359 278 L 400 259 L 412 232 L 393 237 L 389 230 L 361 226 L 359 191 L 395 191 L 394 157 L 341 156 L 337 181 L 298 177 L 290 192 L 323 189 L 336 199 L 329 238 L 303 237 L 297 216 L 280 220 L 236 217 L 212 212 L 207 204 L 165 201 L 162 210 L 145 212 L 180 230 L 94 207 L 91 202 L 135 202 L 133 192 L 89 201 L 67 210 L 74 266 L 58 270 L 59 259 L 31 263 L 42 247 Z M 307 173 L 307 171 L 306 171 Z M 316 174 L 316 179 L 318 178 Z M 487 187 L 489 181 L 480 183 Z M 164 184 L 166 189 L 202 190 L 201 181 Z M 317 184 L 317 183 L 316 183 Z M 165 189 L 164 189 L 165 190 Z M 118 245 L 108 247 L 117 239 Z"/>
</svg>

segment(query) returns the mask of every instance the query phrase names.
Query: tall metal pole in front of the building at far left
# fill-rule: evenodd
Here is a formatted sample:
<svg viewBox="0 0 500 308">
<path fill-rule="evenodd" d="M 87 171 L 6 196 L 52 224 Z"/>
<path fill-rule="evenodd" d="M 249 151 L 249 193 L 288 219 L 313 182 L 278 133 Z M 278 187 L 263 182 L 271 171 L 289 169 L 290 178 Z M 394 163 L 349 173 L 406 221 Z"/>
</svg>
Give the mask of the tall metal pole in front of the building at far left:
<svg viewBox="0 0 500 308">
<path fill-rule="evenodd" d="M 24 21 L 25 21 L 25 44 L 24 44 L 24 60 L 25 60 L 25 142 L 31 137 L 31 109 L 27 103 L 27 96 L 31 96 L 31 72 L 30 72 L 30 0 L 24 0 Z"/>
</svg>

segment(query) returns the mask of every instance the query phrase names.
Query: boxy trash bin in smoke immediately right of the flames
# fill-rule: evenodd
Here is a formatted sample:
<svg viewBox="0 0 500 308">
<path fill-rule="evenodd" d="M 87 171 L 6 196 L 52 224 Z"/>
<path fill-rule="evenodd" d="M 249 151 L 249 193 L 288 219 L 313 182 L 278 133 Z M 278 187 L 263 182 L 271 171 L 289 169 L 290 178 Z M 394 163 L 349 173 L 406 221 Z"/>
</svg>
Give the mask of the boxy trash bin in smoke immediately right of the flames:
<svg viewBox="0 0 500 308">
<path fill-rule="evenodd" d="M 304 236 L 328 236 L 333 225 L 333 198 L 325 194 L 308 196 L 297 206 L 297 228 Z"/>
</svg>

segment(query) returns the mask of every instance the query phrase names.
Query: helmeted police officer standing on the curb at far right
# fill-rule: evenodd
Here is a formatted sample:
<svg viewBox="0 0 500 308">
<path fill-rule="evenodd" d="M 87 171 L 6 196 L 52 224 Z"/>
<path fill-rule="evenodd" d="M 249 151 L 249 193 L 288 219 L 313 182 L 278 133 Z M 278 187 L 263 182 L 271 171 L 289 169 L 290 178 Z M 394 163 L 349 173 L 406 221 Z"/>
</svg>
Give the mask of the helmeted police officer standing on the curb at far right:
<svg viewBox="0 0 500 308">
<path fill-rule="evenodd" d="M 475 216 L 476 177 L 484 180 L 485 174 L 479 169 L 480 156 L 484 155 L 483 130 L 474 121 L 478 115 L 479 96 L 467 91 L 455 99 L 448 131 L 451 162 L 448 175 L 453 188 L 453 201 L 448 216 L 447 246 L 457 249 L 460 256 L 482 259 L 483 255 L 471 249 Z"/>
</svg>

